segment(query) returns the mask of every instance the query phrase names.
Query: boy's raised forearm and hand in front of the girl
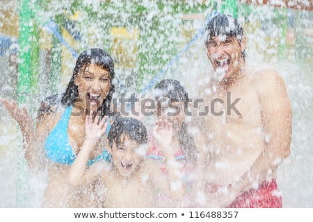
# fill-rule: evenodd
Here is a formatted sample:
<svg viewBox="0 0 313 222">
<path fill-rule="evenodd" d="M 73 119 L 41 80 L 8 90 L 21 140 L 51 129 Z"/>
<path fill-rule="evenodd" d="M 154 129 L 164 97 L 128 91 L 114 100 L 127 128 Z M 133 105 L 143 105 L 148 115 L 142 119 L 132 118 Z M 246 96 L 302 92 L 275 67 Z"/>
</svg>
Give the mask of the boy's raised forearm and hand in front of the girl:
<svg viewBox="0 0 313 222">
<path fill-rule="evenodd" d="M 166 120 L 159 120 L 153 129 L 154 139 L 161 148 L 168 171 L 167 193 L 170 197 L 179 200 L 184 197 L 184 183 L 182 181 L 182 165 L 175 158 L 172 150 L 172 125 Z M 161 172 L 161 170 L 159 170 Z"/>
</svg>

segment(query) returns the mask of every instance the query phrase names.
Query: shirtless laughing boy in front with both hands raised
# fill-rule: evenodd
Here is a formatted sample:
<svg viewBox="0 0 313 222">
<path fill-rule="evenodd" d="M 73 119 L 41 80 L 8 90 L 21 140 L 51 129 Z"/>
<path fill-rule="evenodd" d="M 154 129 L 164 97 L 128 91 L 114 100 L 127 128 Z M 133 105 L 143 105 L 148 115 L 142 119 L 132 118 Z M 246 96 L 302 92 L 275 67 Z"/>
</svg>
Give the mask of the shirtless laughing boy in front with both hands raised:
<svg viewBox="0 0 313 222">
<path fill-rule="evenodd" d="M 86 140 L 72 164 L 68 182 L 70 185 L 97 182 L 104 185 L 104 194 L 100 194 L 102 207 L 175 207 L 184 196 L 181 166 L 175 163 L 172 153 L 166 156 L 168 176 L 161 172 L 153 160 L 145 159 L 147 148 L 147 130 L 141 121 L 133 118 L 117 119 L 108 135 L 111 163 L 99 162 L 86 169 L 88 157 L 106 131 L 105 118 L 90 115 L 86 118 Z M 157 130 L 160 137 L 171 133 L 170 123 L 164 123 Z M 165 148 L 164 139 L 161 146 Z M 159 194 L 170 196 L 170 203 L 162 205 L 157 201 Z"/>
</svg>

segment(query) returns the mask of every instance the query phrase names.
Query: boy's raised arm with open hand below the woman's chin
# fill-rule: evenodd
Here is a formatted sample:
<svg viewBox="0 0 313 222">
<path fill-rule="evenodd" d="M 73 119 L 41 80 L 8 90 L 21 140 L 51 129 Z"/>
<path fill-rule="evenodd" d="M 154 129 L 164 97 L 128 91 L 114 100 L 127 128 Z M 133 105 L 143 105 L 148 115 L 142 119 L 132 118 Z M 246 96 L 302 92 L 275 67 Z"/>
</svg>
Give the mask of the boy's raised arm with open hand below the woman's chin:
<svg viewBox="0 0 313 222">
<path fill-rule="evenodd" d="M 67 177 L 67 182 L 73 186 L 91 182 L 95 174 L 97 174 L 96 167 L 87 168 L 87 164 L 90 153 L 95 148 L 97 141 L 106 133 L 107 123 L 106 117 L 99 121 L 99 116 L 97 115 L 93 121 L 92 115 L 92 113 L 86 115 L 86 139 L 83 142 L 83 146 L 81 146 L 81 151 L 79 151 L 76 160 L 70 167 Z"/>
</svg>

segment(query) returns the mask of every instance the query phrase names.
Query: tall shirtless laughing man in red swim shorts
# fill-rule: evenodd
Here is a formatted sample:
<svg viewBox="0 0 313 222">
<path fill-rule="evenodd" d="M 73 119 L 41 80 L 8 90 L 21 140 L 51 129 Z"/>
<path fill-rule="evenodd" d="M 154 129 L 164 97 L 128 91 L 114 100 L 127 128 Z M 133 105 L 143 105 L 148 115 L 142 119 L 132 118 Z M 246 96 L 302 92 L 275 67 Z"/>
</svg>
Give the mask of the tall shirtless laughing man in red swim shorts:
<svg viewBox="0 0 313 222">
<path fill-rule="evenodd" d="M 246 65 L 246 37 L 230 15 L 207 24 L 207 56 L 213 74 L 200 76 L 196 138 L 204 164 L 202 207 L 282 207 L 276 178 L 290 154 L 291 105 L 273 69 Z M 199 103 L 198 103 L 199 105 Z M 209 111 L 209 112 L 208 112 Z M 202 183 L 202 185 L 204 185 Z M 204 187 L 204 186 L 203 186 Z"/>
</svg>

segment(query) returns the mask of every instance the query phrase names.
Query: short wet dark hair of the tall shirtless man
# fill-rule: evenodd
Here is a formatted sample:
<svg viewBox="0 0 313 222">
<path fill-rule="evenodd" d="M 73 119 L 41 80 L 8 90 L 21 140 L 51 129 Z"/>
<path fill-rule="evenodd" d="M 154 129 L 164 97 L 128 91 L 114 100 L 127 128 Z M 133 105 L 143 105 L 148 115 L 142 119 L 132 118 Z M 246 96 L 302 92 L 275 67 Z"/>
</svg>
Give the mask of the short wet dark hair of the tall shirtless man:
<svg viewBox="0 0 313 222">
<path fill-rule="evenodd" d="M 243 38 L 243 28 L 241 24 L 239 24 L 238 20 L 232 17 L 232 15 L 216 15 L 208 22 L 205 31 L 207 32 L 207 40 L 205 40 L 205 46 L 208 46 L 211 37 L 218 35 L 236 37 L 239 44 L 241 44 L 241 40 Z M 241 56 L 243 57 L 243 59 L 246 58 L 245 50 L 241 51 Z"/>
</svg>

